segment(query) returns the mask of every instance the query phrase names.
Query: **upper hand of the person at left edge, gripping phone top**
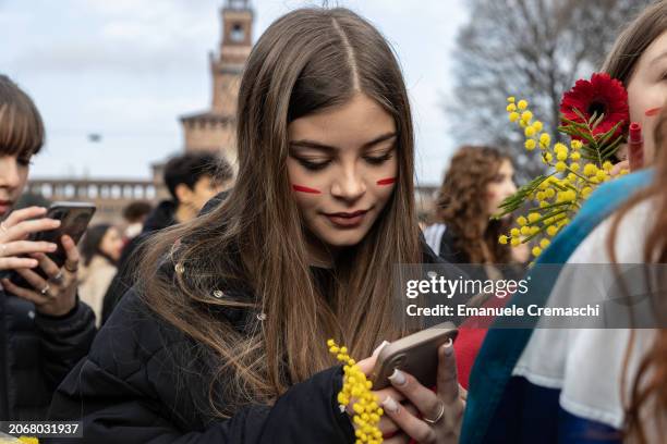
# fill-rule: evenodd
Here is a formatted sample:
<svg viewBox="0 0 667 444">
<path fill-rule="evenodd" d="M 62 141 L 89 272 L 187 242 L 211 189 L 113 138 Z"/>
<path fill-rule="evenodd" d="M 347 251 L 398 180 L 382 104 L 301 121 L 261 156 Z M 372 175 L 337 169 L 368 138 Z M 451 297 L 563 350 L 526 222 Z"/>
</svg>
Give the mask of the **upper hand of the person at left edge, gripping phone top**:
<svg viewBox="0 0 667 444">
<path fill-rule="evenodd" d="M 57 245 L 50 242 L 26 240 L 32 233 L 54 230 L 60 221 L 37 219 L 46 214 L 46 208 L 31 207 L 12 212 L 0 223 L 0 270 L 32 269 L 39 264 L 34 258 L 22 257 L 35 252 L 53 252 Z"/>
</svg>

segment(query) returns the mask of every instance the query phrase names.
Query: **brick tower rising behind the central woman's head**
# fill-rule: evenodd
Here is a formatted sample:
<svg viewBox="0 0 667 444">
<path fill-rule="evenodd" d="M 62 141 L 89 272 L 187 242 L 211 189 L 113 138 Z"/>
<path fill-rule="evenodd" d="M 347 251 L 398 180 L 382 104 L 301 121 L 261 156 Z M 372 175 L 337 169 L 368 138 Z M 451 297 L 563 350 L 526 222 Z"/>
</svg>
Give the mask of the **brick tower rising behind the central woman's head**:
<svg viewBox="0 0 667 444">
<path fill-rule="evenodd" d="M 250 0 L 226 0 L 221 9 L 220 47 L 209 53 L 213 99 L 209 110 L 181 116 L 185 150 L 208 150 L 237 164 L 237 98 L 245 61 L 253 47 Z"/>
</svg>

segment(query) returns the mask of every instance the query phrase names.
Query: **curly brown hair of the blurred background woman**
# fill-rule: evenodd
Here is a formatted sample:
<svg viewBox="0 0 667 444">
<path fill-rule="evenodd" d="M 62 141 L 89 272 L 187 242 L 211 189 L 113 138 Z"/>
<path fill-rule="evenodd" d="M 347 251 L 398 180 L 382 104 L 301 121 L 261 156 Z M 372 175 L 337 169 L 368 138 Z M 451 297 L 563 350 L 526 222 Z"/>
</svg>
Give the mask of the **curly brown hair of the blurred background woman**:
<svg viewBox="0 0 667 444">
<path fill-rule="evenodd" d="M 438 192 L 437 219 L 456 233 L 454 247 L 466 254 L 470 263 L 510 262 L 510 247 L 498 243 L 508 222 L 489 221 L 485 198 L 486 186 L 505 160 L 511 162 L 495 147 L 463 146 L 451 159 Z"/>
</svg>

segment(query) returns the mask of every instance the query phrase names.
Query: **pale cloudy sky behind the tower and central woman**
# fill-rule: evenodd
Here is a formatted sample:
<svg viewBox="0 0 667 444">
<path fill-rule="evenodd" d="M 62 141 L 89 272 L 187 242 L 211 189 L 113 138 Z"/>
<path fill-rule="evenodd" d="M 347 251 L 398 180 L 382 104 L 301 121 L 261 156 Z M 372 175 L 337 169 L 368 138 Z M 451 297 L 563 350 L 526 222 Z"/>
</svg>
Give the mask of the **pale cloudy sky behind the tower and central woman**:
<svg viewBox="0 0 667 444">
<path fill-rule="evenodd" d="M 339 0 L 395 47 L 410 92 L 417 180 L 439 182 L 451 155 L 441 110 L 462 0 Z M 223 0 L 0 0 L 0 72 L 35 100 L 47 146 L 32 176 L 148 178 L 182 150 L 178 116 L 210 104 L 208 51 Z M 254 0 L 254 40 L 299 0 Z M 90 143 L 97 133 L 101 141 Z"/>
</svg>

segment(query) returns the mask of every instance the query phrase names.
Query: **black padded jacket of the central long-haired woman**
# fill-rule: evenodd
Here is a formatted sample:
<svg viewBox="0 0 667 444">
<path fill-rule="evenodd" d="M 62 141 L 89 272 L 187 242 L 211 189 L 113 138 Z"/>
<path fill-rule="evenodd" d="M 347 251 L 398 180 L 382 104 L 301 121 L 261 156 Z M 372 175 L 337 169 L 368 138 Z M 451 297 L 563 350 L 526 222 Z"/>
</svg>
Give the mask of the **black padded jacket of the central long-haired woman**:
<svg viewBox="0 0 667 444">
<path fill-rule="evenodd" d="M 184 336 L 160 333 L 165 325 L 155 317 L 137 314 L 136 299 L 133 292 L 123 297 L 90 355 L 53 397 L 49 418 L 83 421 L 84 443 L 353 442 L 351 422 L 336 402 L 340 367 L 293 385 L 270 407 L 252 405 L 229 419 L 203 419 L 196 406 L 205 402 L 198 394 L 206 392 L 202 387 L 209 381 L 202 375 L 187 383 L 173 365 L 174 356 L 178 360 L 192 344 Z"/>
</svg>

